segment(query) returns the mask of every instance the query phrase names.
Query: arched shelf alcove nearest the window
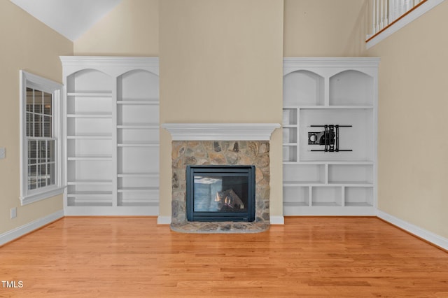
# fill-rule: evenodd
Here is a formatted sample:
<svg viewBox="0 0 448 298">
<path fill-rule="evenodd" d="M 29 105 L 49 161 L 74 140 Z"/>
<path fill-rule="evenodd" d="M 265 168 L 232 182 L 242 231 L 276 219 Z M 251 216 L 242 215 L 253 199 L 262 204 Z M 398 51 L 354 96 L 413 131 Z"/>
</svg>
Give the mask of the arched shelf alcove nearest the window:
<svg viewBox="0 0 448 298">
<path fill-rule="evenodd" d="M 66 86 L 66 206 L 113 206 L 113 77 L 76 70 Z"/>
</svg>

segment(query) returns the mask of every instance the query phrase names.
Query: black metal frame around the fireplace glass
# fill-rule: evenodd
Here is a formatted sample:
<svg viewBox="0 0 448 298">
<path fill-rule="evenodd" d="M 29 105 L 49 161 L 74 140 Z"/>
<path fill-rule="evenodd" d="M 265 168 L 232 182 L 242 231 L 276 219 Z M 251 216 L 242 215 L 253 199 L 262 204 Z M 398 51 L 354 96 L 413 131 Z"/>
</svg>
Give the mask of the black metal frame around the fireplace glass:
<svg viewBox="0 0 448 298">
<path fill-rule="evenodd" d="M 218 171 L 219 170 L 219 171 Z M 198 212 L 194 210 L 194 186 L 195 174 L 207 174 L 208 176 L 247 176 L 248 178 L 248 206 L 246 211 L 239 212 Z M 253 222 L 255 220 L 255 166 L 249 165 L 206 165 L 187 166 L 186 168 L 186 212 L 187 220 L 222 222 L 241 221 Z"/>
</svg>

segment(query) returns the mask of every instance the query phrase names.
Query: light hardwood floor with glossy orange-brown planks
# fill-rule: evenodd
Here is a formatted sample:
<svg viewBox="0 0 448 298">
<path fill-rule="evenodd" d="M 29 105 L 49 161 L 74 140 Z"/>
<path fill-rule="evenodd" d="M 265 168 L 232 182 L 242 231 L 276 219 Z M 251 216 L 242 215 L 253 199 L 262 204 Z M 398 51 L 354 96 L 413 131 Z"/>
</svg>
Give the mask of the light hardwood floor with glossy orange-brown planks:
<svg viewBox="0 0 448 298">
<path fill-rule="evenodd" d="M 378 218 L 181 234 L 156 218 L 63 218 L 0 248 L 0 297 L 448 297 L 448 253 Z M 17 283 L 16 283 L 17 284 Z"/>
</svg>

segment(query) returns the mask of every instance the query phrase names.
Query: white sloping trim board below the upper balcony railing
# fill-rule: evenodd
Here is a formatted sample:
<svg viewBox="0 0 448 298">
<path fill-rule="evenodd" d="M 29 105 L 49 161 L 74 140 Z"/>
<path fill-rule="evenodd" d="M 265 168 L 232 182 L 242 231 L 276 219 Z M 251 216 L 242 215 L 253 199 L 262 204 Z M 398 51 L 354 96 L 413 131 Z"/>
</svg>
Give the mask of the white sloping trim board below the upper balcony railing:
<svg viewBox="0 0 448 298">
<path fill-rule="evenodd" d="M 384 29 L 384 31 L 379 32 L 379 34 L 377 34 L 377 36 L 374 36 L 370 40 L 368 39 L 370 37 L 367 36 L 368 41 L 366 41 L 366 43 L 365 43 L 365 48 L 367 48 L 367 50 L 372 48 L 372 46 L 374 46 L 377 43 L 379 43 L 380 41 L 383 41 L 384 39 L 388 38 L 388 36 L 391 36 L 396 31 L 400 30 L 402 27 L 405 27 L 410 22 L 416 20 L 421 15 L 424 15 L 429 10 L 435 8 L 435 6 L 439 5 L 443 1 L 445 1 L 445 0 L 427 0 L 426 2 L 422 3 L 419 7 L 415 8 L 414 10 L 409 12 L 404 17 L 401 17 L 399 20 L 397 20 L 396 22 L 393 22 L 391 25 L 386 27 L 386 29 Z"/>
</svg>

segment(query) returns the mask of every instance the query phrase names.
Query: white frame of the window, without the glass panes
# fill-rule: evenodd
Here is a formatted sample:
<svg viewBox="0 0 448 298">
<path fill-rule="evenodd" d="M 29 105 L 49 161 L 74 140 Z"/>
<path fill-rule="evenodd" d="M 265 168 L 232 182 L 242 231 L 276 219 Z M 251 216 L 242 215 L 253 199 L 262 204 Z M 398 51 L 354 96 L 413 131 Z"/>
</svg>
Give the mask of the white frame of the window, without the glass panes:
<svg viewBox="0 0 448 298">
<path fill-rule="evenodd" d="M 55 146 L 55 184 L 28 189 L 28 142 L 27 142 L 27 87 L 52 94 L 52 129 Z M 64 101 L 62 100 L 63 85 L 27 71 L 20 71 L 20 202 L 22 206 L 54 197 L 64 192 L 64 163 L 62 162 L 64 131 L 62 115 Z"/>
</svg>

